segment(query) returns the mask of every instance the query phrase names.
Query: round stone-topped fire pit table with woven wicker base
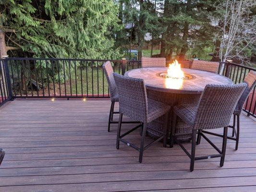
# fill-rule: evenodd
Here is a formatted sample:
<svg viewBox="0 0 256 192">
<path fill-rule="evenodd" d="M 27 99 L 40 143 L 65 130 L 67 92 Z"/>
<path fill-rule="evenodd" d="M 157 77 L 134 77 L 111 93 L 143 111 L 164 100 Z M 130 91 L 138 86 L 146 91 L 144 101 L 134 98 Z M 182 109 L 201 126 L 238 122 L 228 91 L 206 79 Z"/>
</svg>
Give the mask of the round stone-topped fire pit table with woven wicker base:
<svg viewBox="0 0 256 192">
<path fill-rule="evenodd" d="M 169 129 L 171 131 L 172 107 L 178 104 L 197 103 L 207 84 L 233 84 L 232 80 L 213 73 L 194 69 L 182 69 L 183 79 L 172 79 L 166 76 L 167 67 L 140 68 L 125 72 L 125 76 L 144 79 L 148 98 L 161 101 L 171 106 L 169 115 Z M 161 135 L 164 128 L 164 119 L 160 117 L 148 123 L 147 134 L 155 138 Z M 190 132 L 189 127 L 177 118 L 176 133 Z M 190 135 L 178 138 L 180 141 L 190 141 Z"/>
</svg>

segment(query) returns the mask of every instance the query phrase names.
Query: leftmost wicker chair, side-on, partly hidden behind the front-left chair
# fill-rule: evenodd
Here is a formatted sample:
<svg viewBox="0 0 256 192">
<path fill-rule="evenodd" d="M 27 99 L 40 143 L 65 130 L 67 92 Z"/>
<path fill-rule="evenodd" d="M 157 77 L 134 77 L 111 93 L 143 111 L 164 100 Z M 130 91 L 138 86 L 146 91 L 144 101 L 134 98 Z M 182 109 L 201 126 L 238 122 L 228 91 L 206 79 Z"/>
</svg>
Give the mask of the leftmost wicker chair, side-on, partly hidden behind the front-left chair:
<svg viewBox="0 0 256 192">
<path fill-rule="evenodd" d="M 108 132 L 110 132 L 110 124 L 115 123 L 117 124 L 118 121 L 113 121 L 113 115 L 119 114 L 119 112 L 114 111 L 115 102 L 118 102 L 118 94 L 116 90 L 116 83 L 113 78 L 113 68 L 110 61 L 105 62 L 103 65 L 103 71 L 107 78 L 110 90 L 110 99 L 111 99 L 111 106 L 110 106 L 110 115 L 109 115 L 109 124 L 108 124 Z M 123 123 L 137 123 L 135 121 L 124 121 Z"/>
</svg>

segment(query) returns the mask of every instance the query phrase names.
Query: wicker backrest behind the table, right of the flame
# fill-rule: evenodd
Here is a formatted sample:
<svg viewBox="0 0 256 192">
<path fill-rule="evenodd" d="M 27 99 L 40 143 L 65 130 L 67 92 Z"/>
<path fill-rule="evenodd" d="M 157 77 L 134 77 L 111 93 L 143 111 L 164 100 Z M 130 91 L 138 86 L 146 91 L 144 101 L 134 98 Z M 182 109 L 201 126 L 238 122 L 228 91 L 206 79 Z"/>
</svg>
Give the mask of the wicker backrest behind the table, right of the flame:
<svg viewBox="0 0 256 192">
<path fill-rule="evenodd" d="M 191 69 L 217 73 L 219 69 L 219 62 L 193 60 Z"/>
</svg>

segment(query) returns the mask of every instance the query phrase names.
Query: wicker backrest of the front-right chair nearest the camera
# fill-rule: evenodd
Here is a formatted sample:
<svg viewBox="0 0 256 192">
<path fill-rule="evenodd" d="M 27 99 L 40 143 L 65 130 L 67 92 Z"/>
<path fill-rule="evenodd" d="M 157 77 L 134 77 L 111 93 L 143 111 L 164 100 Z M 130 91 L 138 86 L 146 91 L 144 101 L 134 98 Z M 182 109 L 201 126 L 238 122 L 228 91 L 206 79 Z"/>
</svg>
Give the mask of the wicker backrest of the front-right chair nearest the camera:
<svg viewBox="0 0 256 192">
<path fill-rule="evenodd" d="M 207 84 L 198 102 L 194 129 L 227 127 L 245 87 L 245 83 Z"/>
</svg>

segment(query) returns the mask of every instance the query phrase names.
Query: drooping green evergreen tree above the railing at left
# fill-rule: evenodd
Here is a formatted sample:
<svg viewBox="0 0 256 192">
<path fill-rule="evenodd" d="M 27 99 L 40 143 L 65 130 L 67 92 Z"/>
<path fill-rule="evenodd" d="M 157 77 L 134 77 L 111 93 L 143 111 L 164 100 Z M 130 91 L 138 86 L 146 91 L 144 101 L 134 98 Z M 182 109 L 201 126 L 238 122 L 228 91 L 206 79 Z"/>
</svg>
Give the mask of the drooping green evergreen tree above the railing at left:
<svg viewBox="0 0 256 192">
<path fill-rule="evenodd" d="M 113 34 L 122 28 L 113 0 L 1 0 L 5 42 L 41 58 L 117 59 Z"/>
</svg>

